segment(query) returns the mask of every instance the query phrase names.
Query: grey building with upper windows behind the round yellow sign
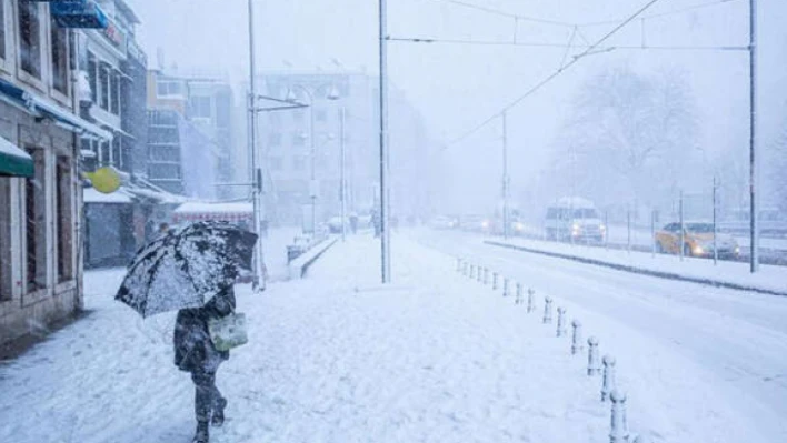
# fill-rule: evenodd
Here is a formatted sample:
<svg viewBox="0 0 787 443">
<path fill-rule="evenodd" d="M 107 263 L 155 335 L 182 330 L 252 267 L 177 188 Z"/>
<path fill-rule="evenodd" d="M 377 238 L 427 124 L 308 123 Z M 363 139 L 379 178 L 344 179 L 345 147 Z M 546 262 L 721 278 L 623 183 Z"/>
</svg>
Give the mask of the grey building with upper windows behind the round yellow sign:
<svg viewBox="0 0 787 443">
<path fill-rule="evenodd" d="M 147 150 L 147 56 L 136 42 L 139 19 L 123 0 L 101 0 L 107 27 L 79 32 L 79 66 L 83 90 L 81 115 L 111 132 L 111 142 L 83 137 L 84 168 L 111 167 L 123 174 L 118 195 L 84 192 L 84 264 L 88 268 L 122 265 L 145 243 L 149 198 L 132 192 Z M 145 221 L 141 221 L 145 223 Z"/>
</svg>

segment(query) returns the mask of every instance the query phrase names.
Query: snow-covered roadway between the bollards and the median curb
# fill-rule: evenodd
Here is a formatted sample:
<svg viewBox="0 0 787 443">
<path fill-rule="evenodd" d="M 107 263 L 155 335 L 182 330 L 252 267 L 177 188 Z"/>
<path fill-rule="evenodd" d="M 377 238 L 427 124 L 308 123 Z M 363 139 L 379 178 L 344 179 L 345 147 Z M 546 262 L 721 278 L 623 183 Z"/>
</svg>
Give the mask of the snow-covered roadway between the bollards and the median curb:
<svg viewBox="0 0 787 443">
<path fill-rule="evenodd" d="M 654 340 L 704 370 L 740 404 L 769 442 L 787 441 L 787 299 L 715 289 L 507 251 L 452 231 L 410 233 L 426 245 L 476 260 L 569 301 L 606 330 L 616 353 L 635 356 Z M 616 330 L 616 324 L 619 329 Z M 604 339 L 602 339 L 604 340 Z M 658 364 L 654 362 L 654 364 Z M 681 373 L 671 374 L 681 377 Z"/>
</svg>

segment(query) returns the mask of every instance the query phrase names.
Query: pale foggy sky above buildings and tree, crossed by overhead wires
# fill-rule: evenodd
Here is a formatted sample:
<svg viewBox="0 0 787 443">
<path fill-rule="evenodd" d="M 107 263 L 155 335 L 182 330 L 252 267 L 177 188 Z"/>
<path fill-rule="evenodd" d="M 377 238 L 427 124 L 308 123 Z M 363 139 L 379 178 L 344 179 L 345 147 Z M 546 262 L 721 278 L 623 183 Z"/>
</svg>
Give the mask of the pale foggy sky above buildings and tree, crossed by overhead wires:
<svg viewBox="0 0 787 443">
<path fill-rule="evenodd" d="M 246 0 L 128 0 L 139 14 L 139 41 L 155 64 L 157 48 L 166 66 L 211 68 L 236 81 L 248 74 Z M 511 13 L 568 26 L 518 21 L 520 42 L 568 43 L 574 28 L 595 42 L 645 0 L 468 0 Z M 680 10 L 703 0 L 663 0 L 644 17 Z M 773 147 L 787 121 L 787 2 L 759 0 L 759 137 Z M 257 0 L 260 71 L 339 69 L 377 72 L 377 1 Z M 596 21 L 612 21 L 588 24 Z M 607 46 L 748 44 L 748 1 L 729 0 L 676 14 L 635 20 Z M 390 0 L 391 37 L 511 41 L 515 20 L 441 0 Z M 577 34 L 576 43 L 584 41 Z M 554 72 L 568 53 L 581 49 L 510 46 L 414 44 L 390 42 L 389 72 L 428 121 L 447 183 L 437 211 L 494 210 L 500 193 L 501 124 L 491 121 L 452 143 Z M 588 80 L 608 69 L 641 75 L 671 72 L 688 85 L 696 110 L 696 147 L 704 162 L 746 172 L 748 159 L 748 56 L 745 51 L 615 50 L 582 59 L 509 114 L 511 195 L 525 200 L 534 189 L 565 187 L 556 178 L 555 152 L 565 120 Z M 394 147 L 396 148 L 396 147 Z M 771 150 L 773 151 L 773 150 Z M 694 152 L 694 151 L 693 151 Z M 676 158 L 675 162 L 683 159 Z M 391 165 L 397 168 L 396 164 Z M 399 165 L 406 167 L 406 165 Z M 707 171 L 706 171 L 707 172 Z M 699 174 L 699 173 L 698 173 Z M 700 181 L 705 181 L 704 173 Z M 773 177 L 770 174 L 769 177 Z M 729 178 L 736 187 L 745 177 Z M 770 179 L 768 179 L 770 181 Z M 664 183 L 656 183 L 656 187 Z M 769 183 L 763 183 L 767 188 Z M 710 184 L 708 183 L 708 188 Z M 773 188 L 773 187 L 771 187 Z M 547 193 L 547 191 L 541 191 Z M 697 191 L 697 190 L 695 190 Z M 739 192 L 740 190 L 738 190 Z M 558 193 L 561 191 L 554 191 Z M 614 192 L 614 191 L 612 191 Z"/>
</svg>

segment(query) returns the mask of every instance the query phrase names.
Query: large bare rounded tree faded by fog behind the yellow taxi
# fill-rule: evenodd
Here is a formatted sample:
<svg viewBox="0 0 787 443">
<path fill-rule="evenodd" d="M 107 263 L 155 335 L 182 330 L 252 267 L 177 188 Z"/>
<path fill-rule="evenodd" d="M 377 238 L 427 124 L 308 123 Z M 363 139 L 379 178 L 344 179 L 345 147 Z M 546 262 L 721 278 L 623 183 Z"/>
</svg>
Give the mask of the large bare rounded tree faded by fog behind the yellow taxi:
<svg viewBox="0 0 787 443">
<path fill-rule="evenodd" d="M 580 88 L 556 141 L 555 170 L 600 202 L 655 205 L 694 180 L 696 140 L 694 99 L 679 74 L 614 68 Z"/>
</svg>

